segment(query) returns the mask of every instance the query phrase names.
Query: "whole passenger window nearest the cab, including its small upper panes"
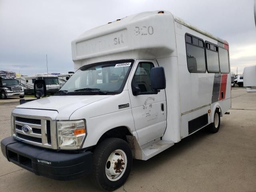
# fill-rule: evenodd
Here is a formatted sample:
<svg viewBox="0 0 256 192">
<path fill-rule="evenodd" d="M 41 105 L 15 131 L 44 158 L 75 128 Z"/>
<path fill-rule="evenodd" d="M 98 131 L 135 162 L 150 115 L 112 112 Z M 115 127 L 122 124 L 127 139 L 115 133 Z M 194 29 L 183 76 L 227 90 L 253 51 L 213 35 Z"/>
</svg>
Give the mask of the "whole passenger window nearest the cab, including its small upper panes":
<svg viewBox="0 0 256 192">
<path fill-rule="evenodd" d="M 192 40 L 193 44 L 186 39 L 188 70 L 190 73 L 204 73 L 206 72 L 206 65 L 203 41 L 196 37 L 193 37 Z"/>
</svg>

